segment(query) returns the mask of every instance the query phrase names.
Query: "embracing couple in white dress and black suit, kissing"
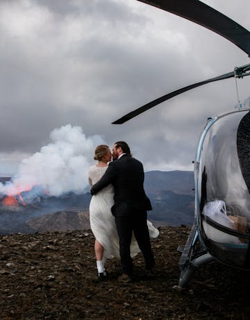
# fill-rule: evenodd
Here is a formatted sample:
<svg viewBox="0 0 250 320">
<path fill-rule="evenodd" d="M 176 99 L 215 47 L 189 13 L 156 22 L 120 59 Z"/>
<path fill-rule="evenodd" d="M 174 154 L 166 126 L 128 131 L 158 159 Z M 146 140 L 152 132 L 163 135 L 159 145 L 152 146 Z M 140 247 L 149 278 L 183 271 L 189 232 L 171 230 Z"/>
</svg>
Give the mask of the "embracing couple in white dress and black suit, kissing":
<svg viewBox="0 0 250 320">
<path fill-rule="evenodd" d="M 157 238 L 158 229 L 147 220 L 152 210 L 143 188 L 144 171 L 124 141 L 114 143 L 113 160 L 108 145 L 98 145 L 89 168 L 91 198 L 89 217 L 96 238 L 95 253 L 98 278 L 104 279 L 105 260 L 120 256 L 120 281 L 132 280 L 132 257 L 139 251 L 145 259 L 146 274 L 154 276 L 154 255 L 150 238 Z M 111 161 L 111 162 L 110 162 Z"/>
</svg>

